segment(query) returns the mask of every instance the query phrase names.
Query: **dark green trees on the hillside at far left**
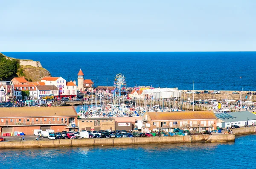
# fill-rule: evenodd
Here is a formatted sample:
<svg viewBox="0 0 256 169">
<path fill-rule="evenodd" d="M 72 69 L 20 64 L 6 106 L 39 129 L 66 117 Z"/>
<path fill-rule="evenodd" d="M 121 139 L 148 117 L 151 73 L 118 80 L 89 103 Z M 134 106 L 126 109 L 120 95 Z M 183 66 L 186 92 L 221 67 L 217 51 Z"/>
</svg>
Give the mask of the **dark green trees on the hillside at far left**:
<svg viewBox="0 0 256 169">
<path fill-rule="evenodd" d="M 18 62 L 15 59 L 6 59 L 2 57 L 0 59 L 0 80 L 11 77 L 14 73 L 17 72 L 17 67 L 19 66 Z"/>
</svg>

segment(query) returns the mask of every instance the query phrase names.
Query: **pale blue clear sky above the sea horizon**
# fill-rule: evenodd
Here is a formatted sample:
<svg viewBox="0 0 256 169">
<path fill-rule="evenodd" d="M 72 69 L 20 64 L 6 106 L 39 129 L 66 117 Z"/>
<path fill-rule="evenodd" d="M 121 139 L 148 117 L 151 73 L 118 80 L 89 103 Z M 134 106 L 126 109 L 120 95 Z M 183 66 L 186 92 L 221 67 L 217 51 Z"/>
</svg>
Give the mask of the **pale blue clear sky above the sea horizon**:
<svg viewBox="0 0 256 169">
<path fill-rule="evenodd" d="M 0 51 L 256 51 L 256 0 L 0 0 Z"/>
</svg>

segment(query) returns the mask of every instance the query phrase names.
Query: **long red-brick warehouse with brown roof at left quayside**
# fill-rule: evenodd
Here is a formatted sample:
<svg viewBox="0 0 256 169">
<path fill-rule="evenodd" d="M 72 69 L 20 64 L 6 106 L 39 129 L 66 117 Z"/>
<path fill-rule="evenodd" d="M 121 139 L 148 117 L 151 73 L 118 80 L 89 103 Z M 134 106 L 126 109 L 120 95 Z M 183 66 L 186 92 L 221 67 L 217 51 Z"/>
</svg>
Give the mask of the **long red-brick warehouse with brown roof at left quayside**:
<svg viewBox="0 0 256 169">
<path fill-rule="evenodd" d="M 33 135 L 35 129 L 55 132 L 76 131 L 77 113 L 74 107 L 12 107 L 0 109 L 0 135 L 24 132 Z"/>
</svg>

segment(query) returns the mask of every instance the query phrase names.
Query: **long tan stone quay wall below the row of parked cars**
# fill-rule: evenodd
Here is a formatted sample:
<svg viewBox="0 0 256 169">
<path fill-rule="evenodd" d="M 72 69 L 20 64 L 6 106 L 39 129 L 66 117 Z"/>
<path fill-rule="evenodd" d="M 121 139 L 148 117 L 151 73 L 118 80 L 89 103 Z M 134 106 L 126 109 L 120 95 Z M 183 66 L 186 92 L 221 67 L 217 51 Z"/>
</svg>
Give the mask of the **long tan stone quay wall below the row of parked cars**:
<svg viewBox="0 0 256 169">
<path fill-rule="evenodd" d="M 68 147 L 68 146 L 118 146 L 118 145 L 134 145 L 134 144 L 174 144 L 174 143 L 192 143 L 192 142 L 229 142 L 229 141 L 235 141 L 235 135 L 193 135 L 193 136 L 172 136 L 172 137 L 9 141 L 9 142 L 0 142 L 0 149 Z"/>
</svg>

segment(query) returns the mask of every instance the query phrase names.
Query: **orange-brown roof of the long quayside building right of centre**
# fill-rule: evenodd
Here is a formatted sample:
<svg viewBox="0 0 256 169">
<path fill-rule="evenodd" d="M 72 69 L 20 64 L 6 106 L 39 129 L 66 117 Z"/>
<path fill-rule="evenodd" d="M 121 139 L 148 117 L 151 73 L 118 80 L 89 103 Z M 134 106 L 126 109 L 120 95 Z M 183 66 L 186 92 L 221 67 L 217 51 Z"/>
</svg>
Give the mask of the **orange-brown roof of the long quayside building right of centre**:
<svg viewBox="0 0 256 169">
<path fill-rule="evenodd" d="M 216 119 L 212 111 L 148 112 L 151 120 Z"/>
</svg>

